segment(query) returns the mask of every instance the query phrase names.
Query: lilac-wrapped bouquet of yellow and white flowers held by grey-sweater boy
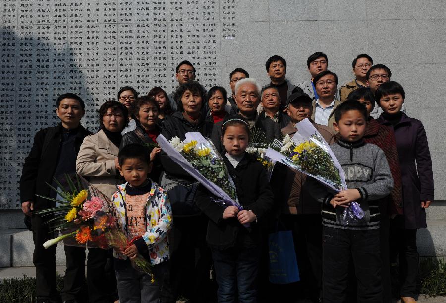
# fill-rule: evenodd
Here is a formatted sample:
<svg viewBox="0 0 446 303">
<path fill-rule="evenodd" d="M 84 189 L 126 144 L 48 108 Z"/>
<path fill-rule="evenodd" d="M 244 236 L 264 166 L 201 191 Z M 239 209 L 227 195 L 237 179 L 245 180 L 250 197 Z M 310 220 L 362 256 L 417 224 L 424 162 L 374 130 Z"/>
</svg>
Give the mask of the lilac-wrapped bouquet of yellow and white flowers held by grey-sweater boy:
<svg viewBox="0 0 446 303">
<path fill-rule="evenodd" d="M 322 135 L 313 124 L 304 119 L 296 124 L 297 132 L 291 138 L 275 140 L 267 149 L 266 156 L 311 176 L 340 192 L 347 189 L 344 171 Z M 348 225 L 361 220 L 364 212 L 357 202 L 352 202 L 343 213 L 342 223 Z"/>
</svg>

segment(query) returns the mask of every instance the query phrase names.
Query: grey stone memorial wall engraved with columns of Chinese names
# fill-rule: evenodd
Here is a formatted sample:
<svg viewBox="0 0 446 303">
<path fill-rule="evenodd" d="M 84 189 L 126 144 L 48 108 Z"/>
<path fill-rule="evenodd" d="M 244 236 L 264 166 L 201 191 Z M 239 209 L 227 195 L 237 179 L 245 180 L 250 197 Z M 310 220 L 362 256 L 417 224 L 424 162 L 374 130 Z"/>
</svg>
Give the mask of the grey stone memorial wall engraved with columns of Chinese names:
<svg viewBox="0 0 446 303">
<path fill-rule="evenodd" d="M 359 53 L 390 67 L 406 89 L 407 113 L 426 126 L 436 199 L 446 199 L 445 5 L 378 2 L 0 0 L 0 209 L 20 208 L 23 161 L 34 134 L 57 123 L 58 95 L 79 94 L 82 124 L 95 131 L 102 102 L 126 85 L 140 95 L 155 86 L 173 91 L 184 59 L 205 88 L 229 90 L 236 67 L 268 83 L 264 64 L 273 54 L 285 57 L 287 77 L 299 84 L 315 51 L 327 53 L 339 86 L 351 80 Z"/>
</svg>

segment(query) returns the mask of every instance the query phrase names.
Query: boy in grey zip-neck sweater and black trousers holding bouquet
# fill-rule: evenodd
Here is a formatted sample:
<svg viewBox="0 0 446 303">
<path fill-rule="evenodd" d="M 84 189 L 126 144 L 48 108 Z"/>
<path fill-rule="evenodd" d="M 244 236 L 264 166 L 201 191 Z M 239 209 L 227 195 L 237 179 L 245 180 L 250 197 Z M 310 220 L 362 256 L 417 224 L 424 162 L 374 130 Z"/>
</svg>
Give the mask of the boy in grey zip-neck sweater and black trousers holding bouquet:
<svg viewBox="0 0 446 303">
<path fill-rule="evenodd" d="M 362 137 L 367 112 L 359 102 L 344 102 L 335 111 L 339 140 L 331 148 L 339 160 L 347 190 L 332 193 L 314 179 L 311 195 L 322 202 L 324 303 L 346 302 L 350 258 L 358 281 L 358 302 L 382 302 L 380 259 L 381 199 L 390 194 L 393 178 L 384 152 Z M 364 218 L 342 223 L 345 208 L 358 202 Z"/>
</svg>

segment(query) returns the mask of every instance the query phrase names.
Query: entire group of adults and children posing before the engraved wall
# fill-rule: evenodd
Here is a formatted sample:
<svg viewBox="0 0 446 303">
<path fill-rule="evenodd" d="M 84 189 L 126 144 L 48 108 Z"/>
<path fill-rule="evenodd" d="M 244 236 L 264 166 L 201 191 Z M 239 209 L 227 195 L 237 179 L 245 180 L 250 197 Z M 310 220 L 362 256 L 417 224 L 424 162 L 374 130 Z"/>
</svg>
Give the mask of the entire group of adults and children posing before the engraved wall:
<svg viewBox="0 0 446 303">
<path fill-rule="evenodd" d="M 56 290 L 56 246 L 46 218 L 54 207 L 46 183 L 77 173 L 111 198 L 134 240 L 122 251 L 89 248 L 88 302 L 391 302 L 391 266 L 399 266 L 399 296 L 417 297 L 416 232 L 426 227 L 434 198 L 432 163 L 423 124 L 404 111 L 403 87 L 390 69 L 367 54 L 352 62 L 355 76 L 338 89 L 328 58 L 307 60 L 310 79 L 294 85 L 286 60 L 265 64 L 270 83 L 261 87 L 242 68 L 206 91 L 195 68 L 176 68 L 172 94 L 154 87 L 138 96 L 123 87 L 98 110 L 99 130 L 80 124 L 85 104 L 74 93 L 56 100 L 56 127 L 40 130 L 20 179 L 22 210 L 35 244 L 37 302 L 85 302 L 85 248 L 64 246 L 64 287 Z M 371 116 L 379 107 L 379 116 Z M 376 118 L 376 119 L 375 119 Z M 348 189 L 334 193 L 315 179 L 276 163 L 270 178 L 246 152 L 253 136 L 266 142 L 292 136 L 309 119 L 339 160 Z M 216 197 L 157 147 L 157 137 L 210 138 L 221 152 L 243 210 L 218 205 Z M 358 202 L 365 217 L 341 223 Z M 139 222 L 136 224 L 136 222 Z M 268 233 L 291 230 L 300 281 L 268 281 Z M 153 276 L 132 268 L 143 255 Z"/>
</svg>

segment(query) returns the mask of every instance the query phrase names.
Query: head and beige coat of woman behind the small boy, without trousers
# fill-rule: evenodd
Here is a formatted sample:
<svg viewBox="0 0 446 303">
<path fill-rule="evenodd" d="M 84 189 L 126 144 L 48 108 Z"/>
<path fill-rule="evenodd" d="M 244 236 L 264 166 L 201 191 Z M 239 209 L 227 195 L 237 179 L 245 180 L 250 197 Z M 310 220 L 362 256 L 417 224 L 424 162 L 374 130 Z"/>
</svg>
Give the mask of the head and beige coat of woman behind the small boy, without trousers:
<svg viewBox="0 0 446 303">
<path fill-rule="evenodd" d="M 118 166 L 121 131 L 128 124 L 127 108 L 117 101 L 107 101 L 99 109 L 101 128 L 85 137 L 76 160 L 76 172 L 88 177 L 104 195 L 111 198 L 120 184 Z"/>
</svg>

